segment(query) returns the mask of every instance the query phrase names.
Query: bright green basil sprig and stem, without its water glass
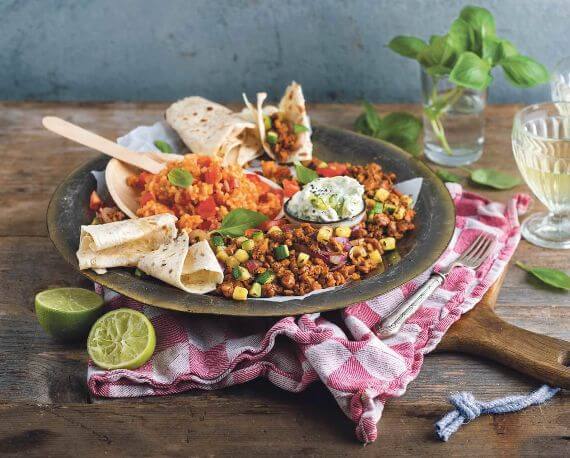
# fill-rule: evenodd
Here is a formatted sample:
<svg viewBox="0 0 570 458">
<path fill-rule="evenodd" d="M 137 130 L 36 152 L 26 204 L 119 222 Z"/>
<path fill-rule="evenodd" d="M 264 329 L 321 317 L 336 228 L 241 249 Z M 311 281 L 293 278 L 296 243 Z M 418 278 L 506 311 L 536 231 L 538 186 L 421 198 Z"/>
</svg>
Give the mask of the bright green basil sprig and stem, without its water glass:
<svg viewBox="0 0 570 458">
<path fill-rule="evenodd" d="M 493 15 L 477 6 L 463 8 L 449 31 L 445 35 L 433 35 L 429 43 L 416 37 L 397 36 L 388 47 L 401 56 L 417 60 L 431 77 L 434 89 L 424 113 L 448 154 L 452 154 L 452 150 L 441 117 L 463 97 L 465 89 L 489 87 L 494 67 L 500 66 L 506 79 L 516 87 L 528 88 L 549 80 L 548 70 L 542 64 L 520 55 L 510 41 L 497 36 Z M 437 92 L 438 82 L 444 77 L 456 87 Z M 358 126 L 357 130 L 360 131 Z"/>
</svg>

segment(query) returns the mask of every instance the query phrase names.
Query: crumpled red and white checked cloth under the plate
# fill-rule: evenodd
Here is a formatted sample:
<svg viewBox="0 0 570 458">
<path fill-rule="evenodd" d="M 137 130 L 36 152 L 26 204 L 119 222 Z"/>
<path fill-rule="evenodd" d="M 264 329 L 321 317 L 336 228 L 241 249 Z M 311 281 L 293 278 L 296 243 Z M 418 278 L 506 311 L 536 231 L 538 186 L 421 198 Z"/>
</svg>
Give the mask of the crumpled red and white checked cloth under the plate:
<svg viewBox="0 0 570 458">
<path fill-rule="evenodd" d="M 425 282 L 431 269 L 402 287 L 342 312 L 341 326 L 319 313 L 267 319 L 192 316 L 143 306 L 105 292 L 112 307 L 142 310 L 157 334 L 152 359 L 136 370 L 88 370 L 91 392 L 106 397 L 156 396 L 191 389 L 213 390 L 266 377 L 288 391 L 320 380 L 356 424 L 362 442 L 376 439 L 384 403 L 401 396 L 449 327 L 470 310 L 505 268 L 520 240 L 518 214 L 530 198 L 517 195 L 507 205 L 490 202 L 461 186 L 448 185 L 457 221 L 445 266 L 481 232 L 497 238 L 493 255 L 477 272 L 457 268 L 401 331 L 380 340 L 374 331 L 405 297 Z M 279 307 L 278 304 L 275 305 Z M 285 336 L 277 340 L 278 336 Z"/>
</svg>

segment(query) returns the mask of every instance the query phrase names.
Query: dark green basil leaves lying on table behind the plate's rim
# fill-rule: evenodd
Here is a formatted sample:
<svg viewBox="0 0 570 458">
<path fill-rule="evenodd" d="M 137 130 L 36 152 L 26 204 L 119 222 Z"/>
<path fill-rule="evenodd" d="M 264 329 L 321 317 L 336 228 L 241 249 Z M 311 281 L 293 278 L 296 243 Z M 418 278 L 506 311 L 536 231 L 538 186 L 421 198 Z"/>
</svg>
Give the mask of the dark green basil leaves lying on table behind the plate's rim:
<svg viewBox="0 0 570 458">
<path fill-rule="evenodd" d="M 363 103 L 363 109 L 354 123 L 357 132 L 393 143 L 414 156 L 419 154 L 422 122 L 418 118 L 404 112 L 390 113 L 382 118 L 368 102 Z"/>
</svg>

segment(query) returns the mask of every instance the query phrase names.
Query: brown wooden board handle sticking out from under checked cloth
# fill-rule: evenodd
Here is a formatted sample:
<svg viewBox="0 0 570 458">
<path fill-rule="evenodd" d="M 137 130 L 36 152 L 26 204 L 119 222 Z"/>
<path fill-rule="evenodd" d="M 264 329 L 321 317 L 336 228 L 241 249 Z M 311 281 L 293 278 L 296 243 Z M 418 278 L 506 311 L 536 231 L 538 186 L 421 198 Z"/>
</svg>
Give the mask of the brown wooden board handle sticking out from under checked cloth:
<svg viewBox="0 0 570 458">
<path fill-rule="evenodd" d="M 570 342 L 527 331 L 495 313 L 505 272 L 473 310 L 456 321 L 438 352 L 483 356 L 553 387 L 570 389 Z"/>
</svg>

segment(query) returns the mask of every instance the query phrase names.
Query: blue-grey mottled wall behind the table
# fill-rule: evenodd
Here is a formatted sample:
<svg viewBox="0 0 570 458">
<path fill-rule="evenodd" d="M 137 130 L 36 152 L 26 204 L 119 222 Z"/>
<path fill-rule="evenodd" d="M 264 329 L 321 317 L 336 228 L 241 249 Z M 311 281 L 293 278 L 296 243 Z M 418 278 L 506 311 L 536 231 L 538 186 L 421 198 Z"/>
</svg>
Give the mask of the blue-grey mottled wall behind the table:
<svg viewBox="0 0 570 458">
<path fill-rule="evenodd" d="M 419 69 L 386 43 L 442 33 L 469 3 L 549 68 L 570 54 L 570 0 L 0 0 L 0 99 L 280 96 L 415 102 Z M 534 102 L 496 72 L 491 102 Z"/>
</svg>

